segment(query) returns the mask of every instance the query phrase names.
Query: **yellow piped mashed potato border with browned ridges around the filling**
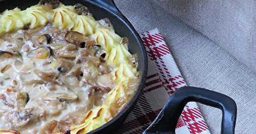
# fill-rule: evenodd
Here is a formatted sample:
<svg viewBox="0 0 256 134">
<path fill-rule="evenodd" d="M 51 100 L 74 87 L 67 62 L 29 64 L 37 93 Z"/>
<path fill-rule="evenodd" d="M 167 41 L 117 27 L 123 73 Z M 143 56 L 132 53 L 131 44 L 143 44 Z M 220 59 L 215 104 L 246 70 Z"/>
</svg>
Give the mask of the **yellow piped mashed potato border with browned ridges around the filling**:
<svg viewBox="0 0 256 134">
<path fill-rule="evenodd" d="M 104 47 L 106 62 L 115 66 L 112 76 L 117 86 L 108 93 L 102 105 L 95 106 L 91 111 L 85 113 L 82 124 L 70 128 L 72 134 L 90 132 L 115 116 L 112 110 L 120 98 L 129 100 L 134 93 L 130 90 L 136 89 L 128 89 L 127 87 L 131 84 L 132 79 L 138 77 L 139 73 L 136 66 L 128 60 L 132 55 L 125 47 L 127 44 L 122 43 L 123 38 L 117 35 L 114 29 L 98 26 L 99 21 L 95 20 L 92 15 L 78 15 L 74 6 L 60 4 L 56 9 L 45 10 L 42 5 L 37 4 L 26 10 L 19 8 L 6 10 L 0 15 L 0 36 L 23 29 L 26 25 L 29 25 L 30 29 L 35 29 L 46 25 L 48 22 L 58 29 L 68 29 L 85 36 L 91 36 L 98 45 Z M 122 106 L 120 106 L 119 111 L 121 109 Z"/>
</svg>

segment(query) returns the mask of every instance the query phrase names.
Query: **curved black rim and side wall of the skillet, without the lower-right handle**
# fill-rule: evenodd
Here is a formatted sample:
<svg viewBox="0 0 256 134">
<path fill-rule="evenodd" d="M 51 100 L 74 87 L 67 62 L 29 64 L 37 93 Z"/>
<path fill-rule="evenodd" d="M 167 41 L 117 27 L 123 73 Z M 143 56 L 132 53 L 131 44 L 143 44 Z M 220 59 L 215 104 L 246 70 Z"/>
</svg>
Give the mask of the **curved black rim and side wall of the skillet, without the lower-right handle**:
<svg viewBox="0 0 256 134">
<path fill-rule="evenodd" d="M 5 1 L 7 1 L 7 0 L 2 0 L 2 1 L 0 0 L 0 5 L 2 2 L 5 2 Z M 38 0 L 36 0 L 36 1 L 38 1 Z M 61 0 L 59 0 L 59 1 L 61 2 Z M 131 22 L 118 10 L 118 8 L 114 4 L 113 0 L 108 0 L 108 1 L 111 1 L 113 3 L 113 5 L 108 4 L 108 2 L 104 2 L 105 0 L 101 0 L 102 1 L 101 4 L 106 4 L 106 5 L 101 5 L 100 3 L 97 3 L 96 2 L 97 0 L 96 1 L 95 0 L 79 0 L 79 1 L 91 4 L 91 5 L 95 6 L 96 8 L 101 8 L 101 9 L 105 10 L 106 12 L 109 12 L 111 15 L 113 15 L 113 17 L 117 18 L 118 21 L 121 21 L 121 23 L 123 23 L 126 26 L 126 29 L 128 29 L 129 32 L 130 31 L 132 32 L 132 36 L 135 38 L 136 43 L 129 44 L 129 45 L 139 45 L 138 46 L 139 52 L 142 57 L 142 61 L 139 62 L 139 65 L 141 66 L 141 70 L 139 71 L 140 72 L 140 82 L 139 82 L 137 91 L 134 93 L 132 98 L 130 98 L 130 100 L 128 102 L 126 102 L 124 108 L 117 115 L 115 115 L 115 117 L 113 119 L 106 122 L 105 124 L 98 127 L 97 129 L 94 129 L 94 130 L 88 132 L 89 134 L 92 134 L 92 133 L 97 133 L 99 131 L 104 131 L 104 128 L 108 128 L 110 125 L 114 124 L 120 118 L 126 119 L 127 115 L 132 111 L 132 109 L 136 105 L 140 95 L 142 94 L 143 88 L 145 85 L 146 74 L 147 74 L 147 55 L 146 55 L 146 50 L 143 45 L 143 42 L 140 38 L 140 35 L 134 29 Z M 12 3 L 8 3 L 8 4 L 12 4 Z M 113 25 L 115 27 L 115 24 L 113 24 Z M 125 114 L 127 114 L 127 115 L 125 115 Z"/>
</svg>

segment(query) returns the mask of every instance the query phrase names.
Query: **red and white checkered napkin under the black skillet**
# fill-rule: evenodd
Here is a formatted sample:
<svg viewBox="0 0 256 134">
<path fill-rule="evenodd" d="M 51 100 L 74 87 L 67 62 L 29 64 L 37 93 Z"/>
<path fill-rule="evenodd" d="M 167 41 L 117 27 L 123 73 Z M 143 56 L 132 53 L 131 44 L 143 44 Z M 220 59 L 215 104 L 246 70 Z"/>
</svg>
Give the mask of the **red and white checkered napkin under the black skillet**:
<svg viewBox="0 0 256 134">
<path fill-rule="evenodd" d="M 148 56 L 146 85 L 138 103 L 118 133 L 142 133 L 177 88 L 186 86 L 158 29 L 141 34 Z M 197 103 L 189 102 L 179 118 L 176 133 L 210 133 Z"/>
</svg>

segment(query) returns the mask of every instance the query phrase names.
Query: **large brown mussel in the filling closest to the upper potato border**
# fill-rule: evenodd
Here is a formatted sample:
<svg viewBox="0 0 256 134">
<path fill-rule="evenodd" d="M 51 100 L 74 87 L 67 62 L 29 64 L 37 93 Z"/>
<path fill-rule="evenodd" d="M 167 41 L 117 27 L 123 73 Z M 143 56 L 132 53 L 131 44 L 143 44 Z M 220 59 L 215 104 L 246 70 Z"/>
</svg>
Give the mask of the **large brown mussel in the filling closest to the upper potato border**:
<svg viewBox="0 0 256 134">
<path fill-rule="evenodd" d="M 65 35 L 65 40 L 69 43 L 79 45 L 82 42 L 86 42 L 89 38 L 82 33 L 70 31 Z"/>
</svg>

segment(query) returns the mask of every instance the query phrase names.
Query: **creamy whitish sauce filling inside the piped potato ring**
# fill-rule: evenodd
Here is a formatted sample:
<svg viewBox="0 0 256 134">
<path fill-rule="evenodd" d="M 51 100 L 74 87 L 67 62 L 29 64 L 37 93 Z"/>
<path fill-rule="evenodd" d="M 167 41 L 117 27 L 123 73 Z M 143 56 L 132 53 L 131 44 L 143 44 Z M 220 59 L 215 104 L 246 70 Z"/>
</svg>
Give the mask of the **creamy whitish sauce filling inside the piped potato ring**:
<svg viewBox="0 0 256 134">
<path fill-rule="evenodd" d="M 24 34 L 26 32 L 31 35 L 31 39 L 25 39 Z M 47 133 L 45 127 L 53 120 L 59 122 L 70 118 L 76 120 L 73 123 L 79 124 L 81 118 L 92 109 L 92 106 L 100 104 L 104 100 L 106 92 L 98 96 L 89 96 L 90 87 L 114 86 L 108 82 L 107 85 L 98 82 L 98 76 L 105 71 L 101 70 L 102 68 L 100 69 L 98 65 L 96 67 L 99 73 L 96 73 L 97 76 L 91 79 L 90 82 L 83 82 L 87 80 L 84 75 L 81 76 L 81 79 L 68 75 L 75 65 L 84 66 L 85 63 L 83 62 L 77 63 L 78 57 L 68 60 L 73 65 L 63 73 L 60 73 L 57 69 L 58 64 L 60 64 L 60 58 L 57 56 L 50 56 L 46 59 L 28 58 L 28 53 L 41 46 L 49 46 L 55 52 L 55 47 L 71 45 L 65 40 L 66 33 L 67 30 L 58 30 L 48 24 L 44 28 L 28 31 L 19 30 L 0 38 L 0 50 L 12 49 L 15 51 L 13 53 L 19 52 L 17 56 L 10 58 L 5 58 L 3 54 L 0 54 L 0 69 L 3 70 L 0 72 L 0 95 L 2 95 L 2 98 L 0 97 L 0 128 L 15 129 L 20 133 Z M 39 44 L 37 42 L 37 38 L 43 34 L 51 36 L 50 44 Z M 77 46 L 74 50 L 61 49 L 64 52 L 75 53 L 78 56 L 80 51 L 87 48 Z M 93 48 L 89 51 L 91 53 L 95 52 Z M 93 55 L 89 55 L 89 57 L 95 58 Z M 97 61 L 90 62 L 98 64 L 94 63 Z M 9 68 L 3 69 L 6 65 Z M 109 71 L 106 72 L 111 71 L 111 67 L 106 63 L 100 62 L 99 65 L 109 68 Z M 37 74 L 38 72 L 53 73 L 56 76 L 46 80 L 42 79 Z M 37 81 L 38 84 L 27 84 L 29 81 Z M 111 80 L 106 79 L 106 81 Z M 24 96 L 25 93 L 29 95 L 29 101 L 22 105 L 23 103 L 20 103 L 18 99 L 20 96 Z M 61 94 L 73 98 L 71 100 L 57 98 Z M 90 97 L 94 97 L 97 102 L 92 102 Z M 23 102 L 25 98 L 21 97 L 20 100 Z M 59 125 L 61 124 L 56 125 L 54 132 L 62 131 L 58 128 Z"/>
</svg>

